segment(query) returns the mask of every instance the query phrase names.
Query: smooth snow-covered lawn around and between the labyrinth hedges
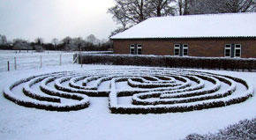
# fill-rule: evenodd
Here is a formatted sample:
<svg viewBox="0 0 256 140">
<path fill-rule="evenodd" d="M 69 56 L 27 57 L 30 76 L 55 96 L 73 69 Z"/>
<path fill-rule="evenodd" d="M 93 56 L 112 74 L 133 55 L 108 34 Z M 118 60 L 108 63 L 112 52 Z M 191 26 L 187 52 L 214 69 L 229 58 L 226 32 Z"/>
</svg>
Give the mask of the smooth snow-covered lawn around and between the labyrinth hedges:
<svg viewBox="0 0 256 140">
<path fill-rule="evenodd" d="M 4 88 L 20 79 L 52 72 L 75 71 L 75 73 L 83 74 L 83 72 L 87 73 L 87 71 L 102 70 L 108 73 L 108 71 L 113 72 L 118 69 L 147 70 L 148 68 L 108 65 L 83 65 L 81 68 L 78 64 L 66 64 L 63 66 L 42 67 L 41 69 L 4 71 L 0 72 L 0 91 L 4 91 Z M 242 78 L 256 89 L 255 72 L 200 71 Z M 97 74 L 97 72 L 94 74 Z M 145 77 L 148 77 L 149 74 L 151 73 L 146 74 Z M 68 86 L 68 83 L 65 82 L 61 84 Z M 81 82 L 78 81 L 76 84 L 81 85 Z M 102 82 L 98 90 L 110 89 L 110 84 L 111 82 L 109 81 Z M 88 83 L 88 85 L 94 85 L 94 83 Z M 192 82 L 191 85 L 196 85 L 196 83 Z M 221 91 L 232 86 L 224 83 L 220 85 Z M 234 92 L 232 96 L 237 96 L 240 92 L 246 91 L 244 85 L 238 83 L 234 85 L 237 87 L 237 92 Z M 53 87 L 53 83 L 49 83 L 49 86 Z M 205 82 L 205 86 L 207 88 L 214 85 Z M 15 92 L 19 95 L 19 98 L 25 99 L 25 97 L 21 97 L 22 87 L 25 87 L 25 85 L 19 85 L 11 92 Z M 39 85 L 37 84 L 32 85 L 31 89 L 38 90 L 38 87 Z M 131 87 L 127 83 L 119 82 L 116 88 L 117 90 L 129 90 Z M 69 99 L 62 101 L 70 103 Z M 0 96 L 0 139 L 176 140 L 184 138 L 191 133 L 215 133 L 218 129 L 223 129 L 230 124 L 244 119 L 252 119 L 256 116 L 255 96 L 245 100 L 245 102 L 227 107 L 166 114 L 111 114 L 108 97 L 89 97 L 89 102 L 89 107 L 78 111 L 56 112 L 22 107 L 5 99 L 4 96 Z M 130 105 L 131 97 L 118 98 L 118 104 L 123 106 Z"/>
</svg>

